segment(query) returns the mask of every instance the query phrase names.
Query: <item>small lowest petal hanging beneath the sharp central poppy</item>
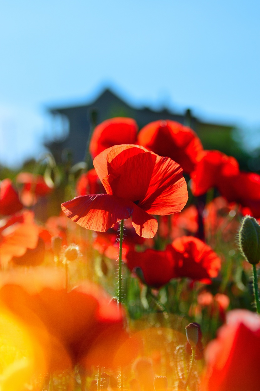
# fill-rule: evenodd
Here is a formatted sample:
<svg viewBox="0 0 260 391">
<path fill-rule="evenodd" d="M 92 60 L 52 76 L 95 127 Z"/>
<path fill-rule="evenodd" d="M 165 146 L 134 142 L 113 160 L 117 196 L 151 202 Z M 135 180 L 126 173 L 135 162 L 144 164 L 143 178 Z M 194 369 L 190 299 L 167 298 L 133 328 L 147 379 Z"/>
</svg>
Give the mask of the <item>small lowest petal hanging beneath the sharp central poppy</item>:
<svg viewBox="0 0 260 391">
<path fill-rule="evenodd" d="M 135 204 L 133 204 L 132 224 L 136 233 L 146 239 L 153 238 L 158 228 L 157 220 Z"/>
</svg>

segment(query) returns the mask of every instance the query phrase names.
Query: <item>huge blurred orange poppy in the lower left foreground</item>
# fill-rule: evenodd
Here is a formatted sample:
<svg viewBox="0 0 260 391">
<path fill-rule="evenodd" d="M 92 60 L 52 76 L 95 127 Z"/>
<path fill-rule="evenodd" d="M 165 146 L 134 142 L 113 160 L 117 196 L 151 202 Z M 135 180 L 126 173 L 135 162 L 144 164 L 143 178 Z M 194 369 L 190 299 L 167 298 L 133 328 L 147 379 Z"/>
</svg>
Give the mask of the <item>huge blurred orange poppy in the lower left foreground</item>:
<svg viewBox="0 0 260 391">
<path fill-rule="evenodd" d="M 39 269 L 27 284 L 5 282 L 0 301 L 36 335 L 49 370 L 65 370 L 78 363 L 116 368 L 135 358 L 139 346 L 129 340 L 121 311 L 103 291 L 85 284 L 67 292 L 55 279 L 48 285 L 41 282 L 36 275 L 40 273 L 45 274 Z"/>
</svg>

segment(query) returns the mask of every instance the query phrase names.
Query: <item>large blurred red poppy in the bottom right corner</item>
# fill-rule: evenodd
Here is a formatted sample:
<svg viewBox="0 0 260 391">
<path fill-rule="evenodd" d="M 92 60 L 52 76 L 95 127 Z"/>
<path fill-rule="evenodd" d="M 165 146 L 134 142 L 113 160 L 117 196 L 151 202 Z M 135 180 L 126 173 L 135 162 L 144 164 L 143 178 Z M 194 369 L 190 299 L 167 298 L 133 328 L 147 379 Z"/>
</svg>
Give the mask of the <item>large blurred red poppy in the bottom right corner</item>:
<svg viewBox="0 0 260 391">
<path fill-rule="evenodd" d="M 206 348 L 202 391 L 259 389 L 260 317 L 234 310 Z"/>
</svg>

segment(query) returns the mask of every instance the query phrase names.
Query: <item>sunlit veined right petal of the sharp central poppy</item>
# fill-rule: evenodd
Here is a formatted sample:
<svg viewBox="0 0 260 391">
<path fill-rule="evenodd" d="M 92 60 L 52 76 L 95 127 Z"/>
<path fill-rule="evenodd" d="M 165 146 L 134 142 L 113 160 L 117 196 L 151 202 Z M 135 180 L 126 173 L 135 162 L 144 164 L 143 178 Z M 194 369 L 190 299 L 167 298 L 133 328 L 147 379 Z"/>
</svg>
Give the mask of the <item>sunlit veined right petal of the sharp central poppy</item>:
<svg viewBox="0 0 260 391">
<path fill-rule="evenodd" d="M 187 185 L 182 172 L 175 161 L 157 156 L 149 188 L 138 206 L 155 215 L 180 212 L 188 200 Z"/>
</svg>

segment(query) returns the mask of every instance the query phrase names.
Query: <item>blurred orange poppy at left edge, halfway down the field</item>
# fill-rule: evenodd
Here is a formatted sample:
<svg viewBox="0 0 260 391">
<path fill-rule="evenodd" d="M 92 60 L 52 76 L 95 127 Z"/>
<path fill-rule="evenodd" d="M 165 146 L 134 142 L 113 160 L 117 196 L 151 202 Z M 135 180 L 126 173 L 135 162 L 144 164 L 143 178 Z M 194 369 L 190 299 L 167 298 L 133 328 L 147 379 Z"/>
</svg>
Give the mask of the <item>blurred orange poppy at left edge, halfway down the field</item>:
<svg viewBox="0 0 260 391">
<path fill-rule="evenodd" d="M 7 266 L 13 256 L 22 256 L 27 249 L 34 249 L 38 243 L 38 227 L 32 212 L 16 213 L 1 220 L 0 264 Z"/>
</svg>

